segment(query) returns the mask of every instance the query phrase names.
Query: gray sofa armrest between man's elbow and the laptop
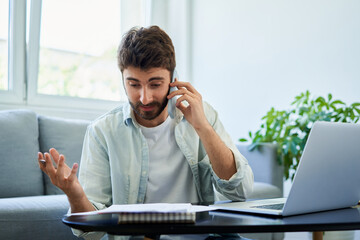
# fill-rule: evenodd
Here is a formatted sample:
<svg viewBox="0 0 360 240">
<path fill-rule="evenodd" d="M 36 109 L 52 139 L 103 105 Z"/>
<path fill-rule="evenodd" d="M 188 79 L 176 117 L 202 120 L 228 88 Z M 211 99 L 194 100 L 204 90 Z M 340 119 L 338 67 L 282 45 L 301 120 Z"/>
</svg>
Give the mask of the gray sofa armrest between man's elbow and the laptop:
<svg viewBox="0 0 360 240">
<path fill-rule="evenodd" d="M 248 144 L 236 144 L 240 153 L 248 160 L 254 173 L 255 182 L 274 185 L 283 193 L 283 166 L 277 161 L 277 147 L 273 143 L 263 143 L 249 151 Z"/>
</svg>

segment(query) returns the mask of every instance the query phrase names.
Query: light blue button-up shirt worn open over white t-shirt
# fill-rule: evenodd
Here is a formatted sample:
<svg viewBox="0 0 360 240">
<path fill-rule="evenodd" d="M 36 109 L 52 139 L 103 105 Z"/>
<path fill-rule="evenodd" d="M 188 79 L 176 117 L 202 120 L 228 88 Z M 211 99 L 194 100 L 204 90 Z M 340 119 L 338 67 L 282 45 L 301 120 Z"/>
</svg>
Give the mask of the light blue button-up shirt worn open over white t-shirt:
<svg viewBox="0 0 360 240">
<path fill-rule="evenodd" d="M 177 114 L 175 139 L 184 154 L 200 201 L 213 202 L 215 193 L 230 200 L 245 200 L 252 191 L 253 173 L 221 124 L 217 112 L 204 102 L 205 115 L 234 154 L 237 172 L 220 179 L 194 128 Z M 112 204 L 144 203 L 149 169 L 149 149 L 129 103 L 93 121 L 87 129 L 79 181 L 96 209 Z"/>
</svg>

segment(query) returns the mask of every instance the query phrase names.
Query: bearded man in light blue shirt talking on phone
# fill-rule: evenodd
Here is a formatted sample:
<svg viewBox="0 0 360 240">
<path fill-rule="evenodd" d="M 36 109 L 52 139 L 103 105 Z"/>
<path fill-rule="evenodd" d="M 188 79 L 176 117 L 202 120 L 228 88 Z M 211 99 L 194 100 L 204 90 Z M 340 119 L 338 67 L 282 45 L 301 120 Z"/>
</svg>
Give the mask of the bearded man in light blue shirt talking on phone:
<svg viewBox="0 0 360 240">
<path fill-rule="evenodd" d="M 55 149 L 38 154 L 41 170 L 67 195 L 71 212 L 112 204 L 212 202 L 214 187 L 228 199 L 244 200 L 252 190 L 252 171 L 195 88 L 170 83 L 176 63 L 169 36 L 157 26 L 131 29 L 120 44 L 118 64 L 129 103 L 89 125 L 79 180 L 78 164 L 68 167 Z M 178 90 L 169 94 L 169 87 Z M 171 119 L 167 103 L 175 96 Z"/>
</svg>

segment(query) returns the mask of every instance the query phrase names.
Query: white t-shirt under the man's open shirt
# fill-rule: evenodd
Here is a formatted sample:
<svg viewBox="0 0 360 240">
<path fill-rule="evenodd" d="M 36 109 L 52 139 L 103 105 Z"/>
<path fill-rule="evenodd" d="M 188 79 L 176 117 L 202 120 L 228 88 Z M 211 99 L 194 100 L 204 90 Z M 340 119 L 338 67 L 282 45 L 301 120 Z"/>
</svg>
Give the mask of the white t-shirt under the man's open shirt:
<svg viewBox="0 0 360 240">
<path fill-rule="evenodd" d="M 149 146 L 145 203 L 199 202 L 190 166 L 175 141 L 175 121 L 168 117 L 159 126 L 141 130 Z"/>
</svg>

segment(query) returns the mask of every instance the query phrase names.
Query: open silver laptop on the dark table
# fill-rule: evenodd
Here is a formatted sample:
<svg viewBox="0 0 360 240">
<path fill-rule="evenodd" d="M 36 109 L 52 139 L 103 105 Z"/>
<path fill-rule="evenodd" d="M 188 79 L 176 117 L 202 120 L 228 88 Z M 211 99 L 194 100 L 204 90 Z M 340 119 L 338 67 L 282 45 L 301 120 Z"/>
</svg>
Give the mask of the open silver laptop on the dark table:
<svg viewBox="0 0 360 240">
<path fill-rule="evenodd" d="M 274 216 L 348 208 L 359 203 L 359 183 L 360 124 L 315 122 L 287 198 L 213 206 Z"/>
</svg>

